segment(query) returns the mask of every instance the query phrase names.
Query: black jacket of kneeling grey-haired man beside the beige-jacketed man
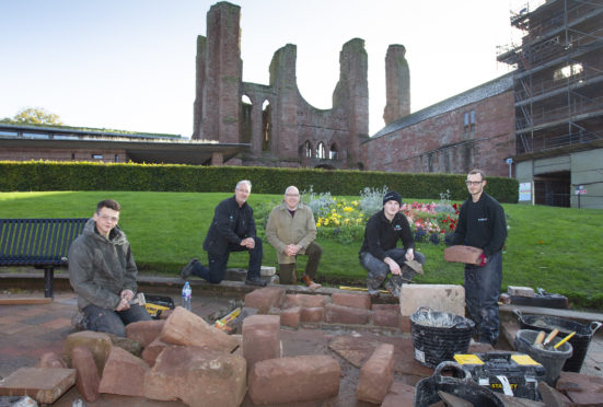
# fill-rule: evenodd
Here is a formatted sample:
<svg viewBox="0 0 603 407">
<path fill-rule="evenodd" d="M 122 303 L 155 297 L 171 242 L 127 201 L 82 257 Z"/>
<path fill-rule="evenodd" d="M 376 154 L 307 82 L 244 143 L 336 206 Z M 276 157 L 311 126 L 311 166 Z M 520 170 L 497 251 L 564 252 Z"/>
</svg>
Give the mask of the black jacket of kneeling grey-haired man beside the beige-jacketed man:
<svg viewBox="0 0 603 407">
<path fill-rule="evenodd" d="M 241 244 L 245 237 L 255 237 L 253 209 L 243 203 L 239 207 L 234 196 L 216 207 L 213 220 L 204 242 L 204 249 L 216 256 L 225 255 L 229 243 Z"/>
</svg>

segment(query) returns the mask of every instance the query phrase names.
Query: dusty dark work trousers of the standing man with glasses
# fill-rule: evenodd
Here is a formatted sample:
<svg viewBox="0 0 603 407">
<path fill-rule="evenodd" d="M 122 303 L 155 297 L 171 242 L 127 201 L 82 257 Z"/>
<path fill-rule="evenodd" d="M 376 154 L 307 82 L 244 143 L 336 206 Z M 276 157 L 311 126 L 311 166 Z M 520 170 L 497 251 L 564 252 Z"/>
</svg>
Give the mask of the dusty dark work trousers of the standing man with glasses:
<svg viewBox="0 0 603 407">
<path fill-rule="evenodd" d="M 478 341 L 494 344 L 498 339 L 498 296 L 502 282 L 502 254 L 488 257 L 486 266 L 465 265 L 465 303 L 475 322 Z"/>
</svg>

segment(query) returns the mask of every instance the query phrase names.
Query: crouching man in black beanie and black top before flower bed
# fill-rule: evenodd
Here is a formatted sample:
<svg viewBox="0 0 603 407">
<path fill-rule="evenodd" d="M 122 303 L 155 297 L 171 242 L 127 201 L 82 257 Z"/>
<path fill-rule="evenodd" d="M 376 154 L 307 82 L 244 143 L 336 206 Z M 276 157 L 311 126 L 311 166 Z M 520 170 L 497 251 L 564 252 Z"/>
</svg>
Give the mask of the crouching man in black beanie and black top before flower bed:
<svg viewBox="0 0 603 407">
<path fill-rule="evenodd" d="M 369 219 L 364 230 L 364 241 L 360 248 L 360 264 L 369 271 L 367 288 L 369 294 L 378 295 L 379 288 L 387 277 L 392 277 L 385 283 L 385 289 L 392 295 L 399 298 L 402 283 L 410 278 L 410 267 L 405 261 L 416 260 L 425 263 L 422 253 L 415 253 L 415 240 L 406 216 L 399 211 L 402 197 L 396 191 L 390 191 L 383 197 L 383 210 L 380 210 Z M 402 241 L 404 248 L 396 247 L 397 241 Z M 408 268 L 408 272 L 403 272 Z"/>
</svg>

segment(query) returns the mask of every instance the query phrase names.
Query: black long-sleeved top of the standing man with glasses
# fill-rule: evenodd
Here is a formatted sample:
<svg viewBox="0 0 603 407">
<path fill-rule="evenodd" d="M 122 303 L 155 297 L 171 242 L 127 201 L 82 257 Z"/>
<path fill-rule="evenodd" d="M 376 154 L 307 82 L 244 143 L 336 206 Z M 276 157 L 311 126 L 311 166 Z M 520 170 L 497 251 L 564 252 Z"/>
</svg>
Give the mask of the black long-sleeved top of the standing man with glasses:
<svg viewBox="0 0 603 407">
<path fill-rule="evenodd" d="M 506 239 L 507 221 L 500 203 L 486 193 L 482 193 L 477 202 L 469 196 L 461 206 L 452 244 L 479 247 L 490 257 L 502 248 Z"/>
</svg>

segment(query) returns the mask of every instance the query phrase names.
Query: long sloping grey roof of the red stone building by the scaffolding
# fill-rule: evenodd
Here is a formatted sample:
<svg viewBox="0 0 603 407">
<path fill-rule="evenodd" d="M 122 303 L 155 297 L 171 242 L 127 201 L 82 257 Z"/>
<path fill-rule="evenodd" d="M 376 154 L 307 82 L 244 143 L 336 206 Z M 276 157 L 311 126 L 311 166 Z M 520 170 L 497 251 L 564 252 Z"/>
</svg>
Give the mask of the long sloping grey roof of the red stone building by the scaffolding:
<svg viewBox="0 0 603 407">
<path fill-rule="evenodd" d="M 507 73 L 489 82 L 469 89 L 468 91 L 460 93 L 455 96 L 449 97 L 442 102 L 436 103 L 434 105 L 401 117 L 375 132 L 370 139 L 364 142 L 369 142 L 381 136 L 389 135 L 408 126 L 416 125 L 417 123 L 439 116 L 443 113 L 451 112 L 472 103 L 485 100 L 487 97 L 498 95 L 511 89 L 513 89 L 513 74 Z"/>
</svg>

